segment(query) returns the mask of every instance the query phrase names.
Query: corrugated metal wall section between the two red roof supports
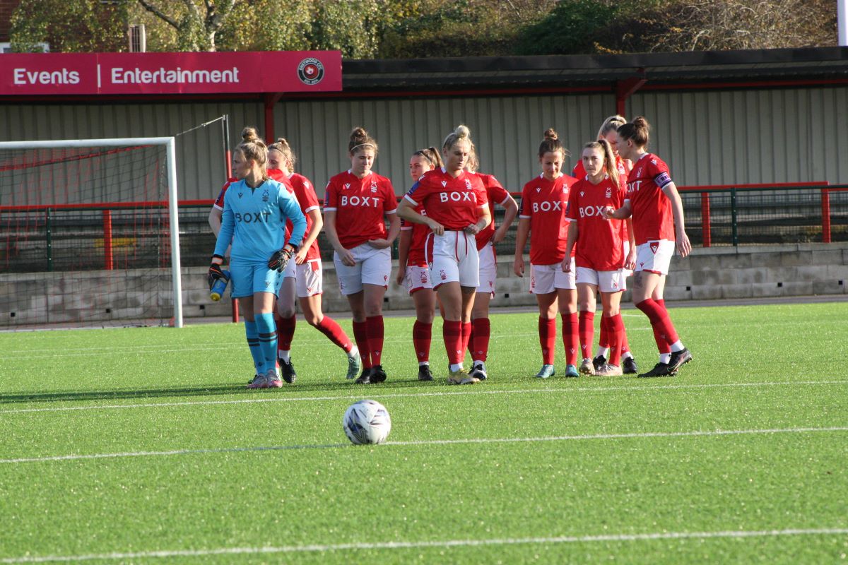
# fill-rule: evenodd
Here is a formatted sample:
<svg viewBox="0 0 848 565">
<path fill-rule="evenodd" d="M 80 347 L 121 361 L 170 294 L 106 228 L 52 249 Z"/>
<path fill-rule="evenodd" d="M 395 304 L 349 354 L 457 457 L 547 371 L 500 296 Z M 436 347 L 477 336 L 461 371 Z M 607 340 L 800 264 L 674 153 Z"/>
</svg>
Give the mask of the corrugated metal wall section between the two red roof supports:
<svg viewBox="0 0 848 565">
<path fill-rule="evenodd" d="M 297 152 L 298 170 L 322 192 L 333 174 L 349 169 L 350 130 L 362 125 L 380 146 L 374 170 L 401 193 L 411 186 L 410 155 L 421 147 L 440 148 L 456 125 L 465 124 L 480 153 L 481 170 L 495 174 L 510 191 L 521 191 L 541 172 L 537 151 L 544 130 L 553 127 L 577 152 L 594 139 L 612 108 L 615 99 L 602 95 L 281 102 L 275 130 Z M 574 163 L 568 159 L 566 169 Z"/>
</svg>

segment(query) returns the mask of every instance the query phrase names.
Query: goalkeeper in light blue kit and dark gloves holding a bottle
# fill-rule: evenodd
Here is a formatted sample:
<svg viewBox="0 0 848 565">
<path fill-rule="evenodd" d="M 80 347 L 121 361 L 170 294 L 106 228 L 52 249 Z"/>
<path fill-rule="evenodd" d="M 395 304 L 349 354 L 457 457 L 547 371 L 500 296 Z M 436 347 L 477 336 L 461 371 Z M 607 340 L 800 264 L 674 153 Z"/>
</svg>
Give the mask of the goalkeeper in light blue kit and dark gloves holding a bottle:
<svg viewBox="0 0 848 565">
<path fill-rule="evenodd" d="M 303 241 L 306 219 L 286 186 L 268 178 L 268 150 L 256 130 L 246 128 L 242 136 L 243 143 L 232 153 L 232 172 L 238 181 L 224 196 L 220 232 L 209 267 L 209 288 L 224 276 L 220 265 L 232 243 L 230 294 L 238 299 L 243 313 L 256 368 L 248 388 L 279 388 L 282 380 L 276 372 L 274 300 L 282 284 L 282 271 Z M 286 220 L 292 223 L 288 241 Z"/>
</svg>

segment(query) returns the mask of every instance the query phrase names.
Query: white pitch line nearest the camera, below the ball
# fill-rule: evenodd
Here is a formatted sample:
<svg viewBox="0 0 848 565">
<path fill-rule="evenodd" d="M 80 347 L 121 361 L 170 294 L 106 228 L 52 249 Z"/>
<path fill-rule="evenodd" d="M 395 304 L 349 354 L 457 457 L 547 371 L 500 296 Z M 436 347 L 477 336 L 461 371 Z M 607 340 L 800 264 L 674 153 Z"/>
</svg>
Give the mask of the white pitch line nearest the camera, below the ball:
<svg viewBox="0 0 848 565">
<path fill-rule="evenodd" d="M 423 549 L 427 547 L 515 546 L 527 544 L 572 544 L 604 541 L 712 540 L 717 538 L 769 538 L 790 535 L 845 535 L 846 528 L 728 530 L 718 532 L 656 532 L 648 534 L 558 535 L 544 538 L 501 538 L 496 540 L 376 541 L 349 544 L 314 544 L 310 546 L 220 547 L 201 550 L 134 551 L 131 553 L 92 553 L 75 556 L 6 557 L 0 563 L 48 563 L 153 557 L 204 557 L 214 555 L 251 555 L 272 553 L 307 553 L 316 551 L 356 551 Z"/>
</svg>

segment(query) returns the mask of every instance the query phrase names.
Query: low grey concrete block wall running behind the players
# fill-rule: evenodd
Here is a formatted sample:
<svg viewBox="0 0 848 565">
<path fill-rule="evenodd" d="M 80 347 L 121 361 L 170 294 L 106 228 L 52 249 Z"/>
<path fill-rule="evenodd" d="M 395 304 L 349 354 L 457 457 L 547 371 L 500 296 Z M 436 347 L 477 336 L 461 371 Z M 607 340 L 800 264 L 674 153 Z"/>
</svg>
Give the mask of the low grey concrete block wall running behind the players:
<svg viewBox="0 0 848 565">
<path fill-rule="evenodd" d="M 512 256 L 499 258 L 493 307 L 534 305 L 529 278 L 512 274 Z M 324 265 L 326 312 L 347 312 L 339 295 L 332 263 Z M 395 271 L 396 272 L 396 271 Z M 710 300 L 763 296 L 848 294 L 848 243 L 697 248 L 689 258 L 674 258 L 668 275 L 667 300 Z M 156 324 L 167 321 L 173 305 L 170 272 L 96 271 L 0 275 L 0 327 L 32 324 Z M 182 270 L 183 316 L 228 316 L 229 295 L 209 300 L 205 268 Z M 629 301 L 629 292 L 623 297 Z M 385 309 L 412 308 L 406 291 L 390 285 Z"/>
</svg>

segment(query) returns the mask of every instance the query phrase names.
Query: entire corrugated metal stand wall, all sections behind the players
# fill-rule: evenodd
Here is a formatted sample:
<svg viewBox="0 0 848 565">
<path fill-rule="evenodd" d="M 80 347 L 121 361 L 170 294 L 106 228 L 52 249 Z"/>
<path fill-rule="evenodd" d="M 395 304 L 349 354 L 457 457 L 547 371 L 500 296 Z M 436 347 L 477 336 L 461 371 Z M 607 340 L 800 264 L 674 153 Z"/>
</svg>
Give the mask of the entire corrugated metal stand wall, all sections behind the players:
<svg viewBox="0 0 848 565">
<path fill-rule="evenodd" d="M 611 95 L 431 97 L 279 102 L 276 135 L 298 153 L 298 171 L 320 194 L 326 180 L 349 168 L 350 130 L 363 125 L 380 144 L 375 170 L 400 193 L 410 186 L 409 157 L 439 147 L 464 123 L 485 172 L 510 191 L 538 174 L 536 150 L 554 127 L 575 155 L 612 114 Z M 672 168 L 678 185 L 828 180 L 848 183 L 848 89 L 637 92 L 628 117 L 654 126 L 651 149 Z M 243 125 L 264 124 L 262 104 L 158 103 L 0 105 L 0 140 L 170 136 L 230 115 L 235 145 Z M 178 137 L 181 198 L 212 198 L 224 180 L 220 126 Z M 2 203 L 2 202 L 0 202 Z"/>
</svg>

